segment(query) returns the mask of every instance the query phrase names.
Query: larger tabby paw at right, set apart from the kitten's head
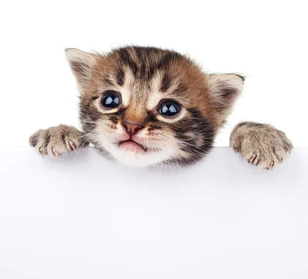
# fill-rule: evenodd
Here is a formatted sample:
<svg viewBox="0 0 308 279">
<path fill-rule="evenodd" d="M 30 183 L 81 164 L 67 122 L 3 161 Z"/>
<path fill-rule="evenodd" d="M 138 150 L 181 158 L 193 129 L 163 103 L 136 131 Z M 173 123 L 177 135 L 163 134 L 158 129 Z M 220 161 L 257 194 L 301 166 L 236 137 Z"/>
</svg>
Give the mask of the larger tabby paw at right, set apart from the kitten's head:
<svg viewBox="0 0 308 279">
<path fill-rule="evenodd" d="M 284 132 L 271 125 L 255 122 L 237 124 L 230 135 L 230 146 L 249 164 L 267 170 L 279 165 L 293 148 Z"/>
</svg>

